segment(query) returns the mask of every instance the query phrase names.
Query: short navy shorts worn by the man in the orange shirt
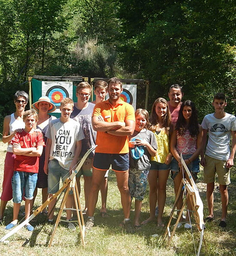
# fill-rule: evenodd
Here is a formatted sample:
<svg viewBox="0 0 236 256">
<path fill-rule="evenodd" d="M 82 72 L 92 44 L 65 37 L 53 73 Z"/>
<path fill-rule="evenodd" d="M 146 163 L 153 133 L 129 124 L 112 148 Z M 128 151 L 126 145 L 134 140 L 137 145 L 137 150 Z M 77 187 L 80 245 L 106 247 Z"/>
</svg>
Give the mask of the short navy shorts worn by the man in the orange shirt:
<svg viewBox="0 0 236 256">
<path fill-rule="evenodd" d="M 127 172 L 129 170 L 129 153 L 127 154 L 106 154 L 95 153 L 93 167 L 98 170 L 106 171 L 112 165 L 115 172 Z"/>
</svg>

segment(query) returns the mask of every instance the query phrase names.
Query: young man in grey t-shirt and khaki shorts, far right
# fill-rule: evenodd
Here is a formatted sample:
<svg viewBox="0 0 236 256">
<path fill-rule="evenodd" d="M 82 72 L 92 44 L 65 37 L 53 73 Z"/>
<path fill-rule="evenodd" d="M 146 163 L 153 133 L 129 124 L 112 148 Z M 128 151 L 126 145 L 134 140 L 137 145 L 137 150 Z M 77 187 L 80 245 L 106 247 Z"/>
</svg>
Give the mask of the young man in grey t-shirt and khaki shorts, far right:
<svg viewBox="0 0 236 256">
<path fill-rule="evenodd" d="M 206 146 L 206 155 L 201 154 L 201 164 L 204 167 L 204 182 L 206 182 L 206 196 L 209 216 L 207 221 L 212 221 L 213 191 L 215 186 L 215 173 L 220 184 L 222 215 L 220 227 L 226 227 L 226 215 L 228 205 L 227 185 L 230 184 L 230 167 L 233 166 L 233 158 L 236 151 L 236 117 L 224 112 L 227 105 L 224 93 L 216 93 L 212 103 L 215 113 L 208 114 L 203 119 L 203 151 L 206 146 L 206 136 L 209 135 Z M 232 136 L 232 151 L 230 153 L 230 137 Z"/>
</svg>

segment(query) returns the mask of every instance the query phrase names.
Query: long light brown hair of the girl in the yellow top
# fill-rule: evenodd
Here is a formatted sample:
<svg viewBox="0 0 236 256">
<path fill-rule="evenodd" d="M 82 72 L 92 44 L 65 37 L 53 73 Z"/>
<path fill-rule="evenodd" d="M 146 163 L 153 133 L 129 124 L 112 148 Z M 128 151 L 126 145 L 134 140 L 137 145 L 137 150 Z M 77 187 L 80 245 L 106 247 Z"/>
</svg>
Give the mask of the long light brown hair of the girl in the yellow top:
<svg viewBox="0 0 236 256">
<path fill-rule="evenodd" d="M 154 101 L 152 108 L 151 108 L 151 117 L 150 117 L 150 127 L 149 130 L 154 131 L 158 127 L 158 117 L 156 113 L 156 105 L 157 103 L 164 103 L 166 105 L 166 114 L 162 120 L 162 126 L 166 129 L 166 133 L 169 134 L 170 125 L 171 125 L 171 114 L 169 112 L 169 105 L 168 102 L 164 98 L 158 98 Z"/>
</svg>

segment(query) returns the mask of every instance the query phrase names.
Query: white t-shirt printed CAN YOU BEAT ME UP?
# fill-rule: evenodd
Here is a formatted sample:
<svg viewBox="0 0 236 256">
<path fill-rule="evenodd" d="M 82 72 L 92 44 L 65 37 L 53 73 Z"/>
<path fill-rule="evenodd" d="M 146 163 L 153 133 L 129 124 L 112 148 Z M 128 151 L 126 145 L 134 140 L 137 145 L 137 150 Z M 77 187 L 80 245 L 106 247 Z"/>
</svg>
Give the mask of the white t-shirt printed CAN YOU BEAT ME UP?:
<svg viewBox="0 0 236 256">
<path fill-rule="evenodd" d="M 76 141 L 85 138 L 80 124 L 71 118 L 66 123 L 62 123 L 60 118 L 51 120 L 45 137 L 51 139 L 49 160 L 57 159 L 61 167 L 70 170 Z"/>
</svg>

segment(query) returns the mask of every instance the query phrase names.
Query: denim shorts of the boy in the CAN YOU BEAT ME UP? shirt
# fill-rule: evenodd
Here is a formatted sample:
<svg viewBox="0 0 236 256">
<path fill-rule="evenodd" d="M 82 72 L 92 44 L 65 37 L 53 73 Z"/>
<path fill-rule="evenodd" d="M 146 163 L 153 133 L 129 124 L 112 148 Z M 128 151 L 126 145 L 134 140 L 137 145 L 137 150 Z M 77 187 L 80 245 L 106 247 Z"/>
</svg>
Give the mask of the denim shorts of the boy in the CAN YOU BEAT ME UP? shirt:
<svg viewBox="0 0 236 256">
<path fill-rule="evenodd" d="M 48 193 L 55 194 L 59 190 L 60 180 L 62 183 L 70 176 L 70 171 L 61 167 L 56 159 L 48 163 Z M 70 190 L 69 194 L 73 194 Z"/>
</svg>

